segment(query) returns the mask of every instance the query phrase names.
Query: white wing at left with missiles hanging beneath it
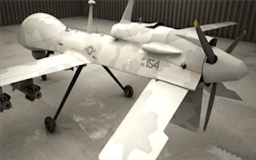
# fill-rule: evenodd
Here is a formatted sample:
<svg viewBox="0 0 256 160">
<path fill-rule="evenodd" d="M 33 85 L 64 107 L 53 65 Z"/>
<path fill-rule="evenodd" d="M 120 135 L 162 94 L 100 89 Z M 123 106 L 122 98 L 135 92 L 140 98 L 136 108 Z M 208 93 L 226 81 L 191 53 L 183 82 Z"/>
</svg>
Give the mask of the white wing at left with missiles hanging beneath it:
<svg viewBox="0 0 256 160">
<path fill-rule="evenodd" d="M 51 74 L 86 63 L 92 63 L 92 61 L 84 58 L 79 52 L 68 50 L 57 56 L 0 69 L 0 86 L 42 76 L 44 74 Z"/>
</svg>

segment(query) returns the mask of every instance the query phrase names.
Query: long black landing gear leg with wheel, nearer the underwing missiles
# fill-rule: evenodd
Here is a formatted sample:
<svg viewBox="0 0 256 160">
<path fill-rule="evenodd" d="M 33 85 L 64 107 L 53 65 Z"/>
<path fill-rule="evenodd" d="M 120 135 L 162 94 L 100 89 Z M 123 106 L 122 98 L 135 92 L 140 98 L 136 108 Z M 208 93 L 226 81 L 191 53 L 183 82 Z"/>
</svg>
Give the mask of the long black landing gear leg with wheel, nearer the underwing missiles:
<svg viewBox="0 0 256 160">
<path fill-rule="evenodd" d="M 76 83 L 76 80 L 77 80 L 77 78 L 78 78 L 79 74 L 81 73 L 81 70 L 83 69 L 84 66 L 86 66 L 86 65 L 80 65 L 77 68 L 76 74 L 74 75 L 71 83 L 68 86 L 67 92 L 65 93 L 63 99 L 61 100 L 61 104 L 60 104 L 58 110 L 56 111 L 56 114 L 55 114 L 54 118 L 52 119 L 50 116 L 47 116 L 45 118 L 44 123 L 45 123 L 45 127 L 46 127 L 47 131 L 54 132 L 55 127 L 56 127 L 56 120 L 57 120 L 58 116 L 60 115 L 61 109 L 63 108 L 63 106 L 64 106 L 64 104 L 65 104 L 65 102 L 68 98 L 68 95 L 71 92 L 74 84 Z"/>
</svg>

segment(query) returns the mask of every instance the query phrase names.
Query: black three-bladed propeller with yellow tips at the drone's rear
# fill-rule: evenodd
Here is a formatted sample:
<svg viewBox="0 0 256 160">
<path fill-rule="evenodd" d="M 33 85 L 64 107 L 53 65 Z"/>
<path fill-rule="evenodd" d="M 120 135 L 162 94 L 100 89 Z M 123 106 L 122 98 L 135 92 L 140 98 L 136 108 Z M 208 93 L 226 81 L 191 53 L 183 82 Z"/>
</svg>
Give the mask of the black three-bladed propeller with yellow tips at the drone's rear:
<svg viewBox="0 0 256 160">
<path fill-rule="evenodd" d="M 204 49 L 205 55 L 207 56 L 207 63 L 210 64 L 214 64 L 217 61 L 217 56 L 214 54 L 214 52 L 212 51 L 211 45 L 207 42 L 204 33 L 202 32 L 202 29 L 200 28 L 200 25 L 197 23 L 197 20 L 195 20 L 195 28 L 196 28 L 196 33 L 199 37 L 200 43 Z M 236 40 L 227 48 L 226 52 L 230 53 L 234 50 L 234 48 L 236 47 L 236 45 L 238 44 L 238 42 L 243 38 L 243 36 L 245 35 L 246 31 L 244 31 L 243 33 L 241 33 L 241 35 L 239 35 Z M 216 95 L 216 89 L 217 89 L 217 83 L 212 83 L 212 90 L 211 90 L 211 95 L 210 95 L 210 99 L 209 99 L 209 104 L 207 107 L 207 113 L 205 116 L 205 123 L 204 123 L 204 131 L 207 128 L 207 124 L 209 122 L 209 118 L 211 116 L 211 111 L 212 111 L 212 106 L 213 106 L 213 102 L 214 102 L 214 97 Z"/>
</svg>

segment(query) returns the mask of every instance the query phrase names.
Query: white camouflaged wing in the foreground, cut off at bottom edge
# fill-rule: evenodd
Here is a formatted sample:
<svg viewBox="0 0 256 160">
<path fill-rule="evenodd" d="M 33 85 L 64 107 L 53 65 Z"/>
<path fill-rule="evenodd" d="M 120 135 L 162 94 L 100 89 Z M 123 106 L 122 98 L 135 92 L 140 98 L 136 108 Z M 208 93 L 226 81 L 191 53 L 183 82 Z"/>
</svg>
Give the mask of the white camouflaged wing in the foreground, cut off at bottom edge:
<svg viewBox="0 0 256 160">
<path fill-rule="evenodd" d="M 187 93 L 185 88 L 152 79 L 99 159 L 156 159 L 168 140 L 164 129 Z"/>
</svg>

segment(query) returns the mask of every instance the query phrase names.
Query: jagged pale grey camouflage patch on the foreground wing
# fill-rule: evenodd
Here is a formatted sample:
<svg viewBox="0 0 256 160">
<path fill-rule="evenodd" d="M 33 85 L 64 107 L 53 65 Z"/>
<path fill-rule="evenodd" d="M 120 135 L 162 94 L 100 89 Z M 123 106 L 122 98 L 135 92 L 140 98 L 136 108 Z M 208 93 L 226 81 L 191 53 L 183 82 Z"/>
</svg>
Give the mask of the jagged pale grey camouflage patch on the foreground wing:
<svg viewBox="0 0 256 160">
<path fill-rule="evenodd" d="M 136 106 L 139 106 L 139 108 L 131 109 L 129 113 L 131 112 L 132 115 L 135 115 L 132 122 L 123 121 L 122 123 L 127 123 L 123 126 L 130 126 L 131 129 L 129 131 L 125 129 L 118 129 L 116 130 L 116 135 L 123 135 L 122 137 L 113 136 L 114 143 L 118 143 L 124 146 L 124 152 L 122 159 L 127 159 L 129 155 L 131 154 L 132 150 L 135 148 L 138 148 L 139 150 L 150 154 L 152 152 L 152 146 L 150 144 L 150 141 L 148 137 L 157 131 L 158 125 L 157 125 L 157 119 L 158 115 L 154 111 L 150 111 L 147 114 L 143 114 L 143 106 L 145 105 L 145 102 L 147 102 L 147 99 L 152 96 L 153 92 L 152 90 L 147 90 L 146 92 L 142 93 L 141 100 L 139 101 L 139 104 L 136 104 Z M 140 123 L 138 123 L 140 122 Z M 136 125 L 132 125 L 136 124 Z M 150 125 L 145 125 L 150 124 Z M 138 126 L 139 125 L 139 126 Z M 147 127 L 146 127 L 147 126 Z M 136 132 L 134 132 L 136 131 Z M 132 140 L 137 140 L 134 141 Z"/>
</svg>

